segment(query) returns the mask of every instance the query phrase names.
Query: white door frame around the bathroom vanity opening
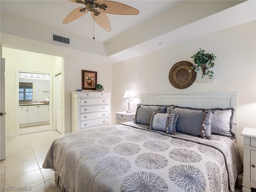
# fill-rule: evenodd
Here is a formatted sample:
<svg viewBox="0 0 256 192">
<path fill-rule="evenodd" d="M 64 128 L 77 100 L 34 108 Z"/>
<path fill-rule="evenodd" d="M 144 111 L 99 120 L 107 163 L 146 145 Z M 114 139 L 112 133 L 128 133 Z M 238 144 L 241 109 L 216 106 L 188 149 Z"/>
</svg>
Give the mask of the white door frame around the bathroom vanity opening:
<svg viewBox="0 0 256 192">
<path fill-rule="evenodd" d="M 20 135 L 20 124 L 19 124 L 19 73 L 39 73 L 39 74 L 46 74 L 49 75 L 49 99 L 52 101 L 52 74 L 51 73 L 46 73 L 46 72 L 39 72 L 39 71 L 28 71 L 28 70 L 16 70 L 16 136 Z M 49 126 L 50 130 L 52 129 L 52 102 L 49 102 Z"/>
</svg>

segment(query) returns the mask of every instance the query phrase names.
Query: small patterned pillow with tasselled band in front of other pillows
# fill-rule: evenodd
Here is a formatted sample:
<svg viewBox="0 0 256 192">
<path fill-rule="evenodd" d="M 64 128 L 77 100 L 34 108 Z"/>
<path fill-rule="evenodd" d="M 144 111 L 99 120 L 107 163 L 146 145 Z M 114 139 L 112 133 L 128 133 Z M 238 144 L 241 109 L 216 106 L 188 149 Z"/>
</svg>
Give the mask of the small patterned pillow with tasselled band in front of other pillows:
<svg viewBox="0 0 256 192">
<path fill-rule="evenodd" d="M 176 114 L 167 113 L 151 113 L 150 129 L 165 132 L 167 134 L 175 134 L 175 125 L 178 116 Z"/>
</svg>

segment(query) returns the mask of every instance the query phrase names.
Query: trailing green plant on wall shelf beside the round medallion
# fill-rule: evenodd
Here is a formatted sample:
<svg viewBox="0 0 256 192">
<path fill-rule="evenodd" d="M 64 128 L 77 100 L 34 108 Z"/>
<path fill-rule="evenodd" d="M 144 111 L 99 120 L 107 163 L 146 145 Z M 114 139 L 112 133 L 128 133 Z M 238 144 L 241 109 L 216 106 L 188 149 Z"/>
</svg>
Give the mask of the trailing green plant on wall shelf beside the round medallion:
<svg viewBox="0 0 256 192">
<path fill-rule="evenodd" d="M 191 67 L 191 70 L 195 70 L 195 72 L 199 71 L 202 68 L 202 78 L 206 75 L 211 79 L 213 77 L 213 71 L 210 70 L 214 66 L 214 61 L 216 56 L 214 54 L 206 53 L 204 50 L 199 48 L 199 51 L 191 56 L 195 64 Z M 191 71 L 190 70 L 190 71 Z"/>
</svg>

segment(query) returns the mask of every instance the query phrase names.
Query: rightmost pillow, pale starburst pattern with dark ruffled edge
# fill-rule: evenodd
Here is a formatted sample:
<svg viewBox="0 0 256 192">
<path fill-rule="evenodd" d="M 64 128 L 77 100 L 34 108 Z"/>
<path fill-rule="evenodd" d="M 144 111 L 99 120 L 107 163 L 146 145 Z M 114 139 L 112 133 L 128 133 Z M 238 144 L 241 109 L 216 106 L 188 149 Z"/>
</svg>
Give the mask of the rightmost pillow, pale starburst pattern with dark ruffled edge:
<svg viewBox="0 0 256 192">
<path fill-rule="evenodd" d="M 214 108 L 212 116 L 212 134 L 236 138 L 233 130 L 234 108 Z"/>
</svg>

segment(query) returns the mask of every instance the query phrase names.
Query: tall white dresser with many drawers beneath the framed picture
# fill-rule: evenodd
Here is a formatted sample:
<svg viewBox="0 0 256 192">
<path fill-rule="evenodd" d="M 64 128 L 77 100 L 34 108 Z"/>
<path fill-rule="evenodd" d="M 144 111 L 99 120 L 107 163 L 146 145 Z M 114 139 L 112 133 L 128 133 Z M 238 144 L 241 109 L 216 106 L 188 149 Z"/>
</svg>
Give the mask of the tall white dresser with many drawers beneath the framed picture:
<svg viewBox="0 0 256 192">
<path fill-rule="evenodd" d="M 71 131 L 108 126 L 110 122 L 110 93 L 71 92 Z"/>
</svg>

